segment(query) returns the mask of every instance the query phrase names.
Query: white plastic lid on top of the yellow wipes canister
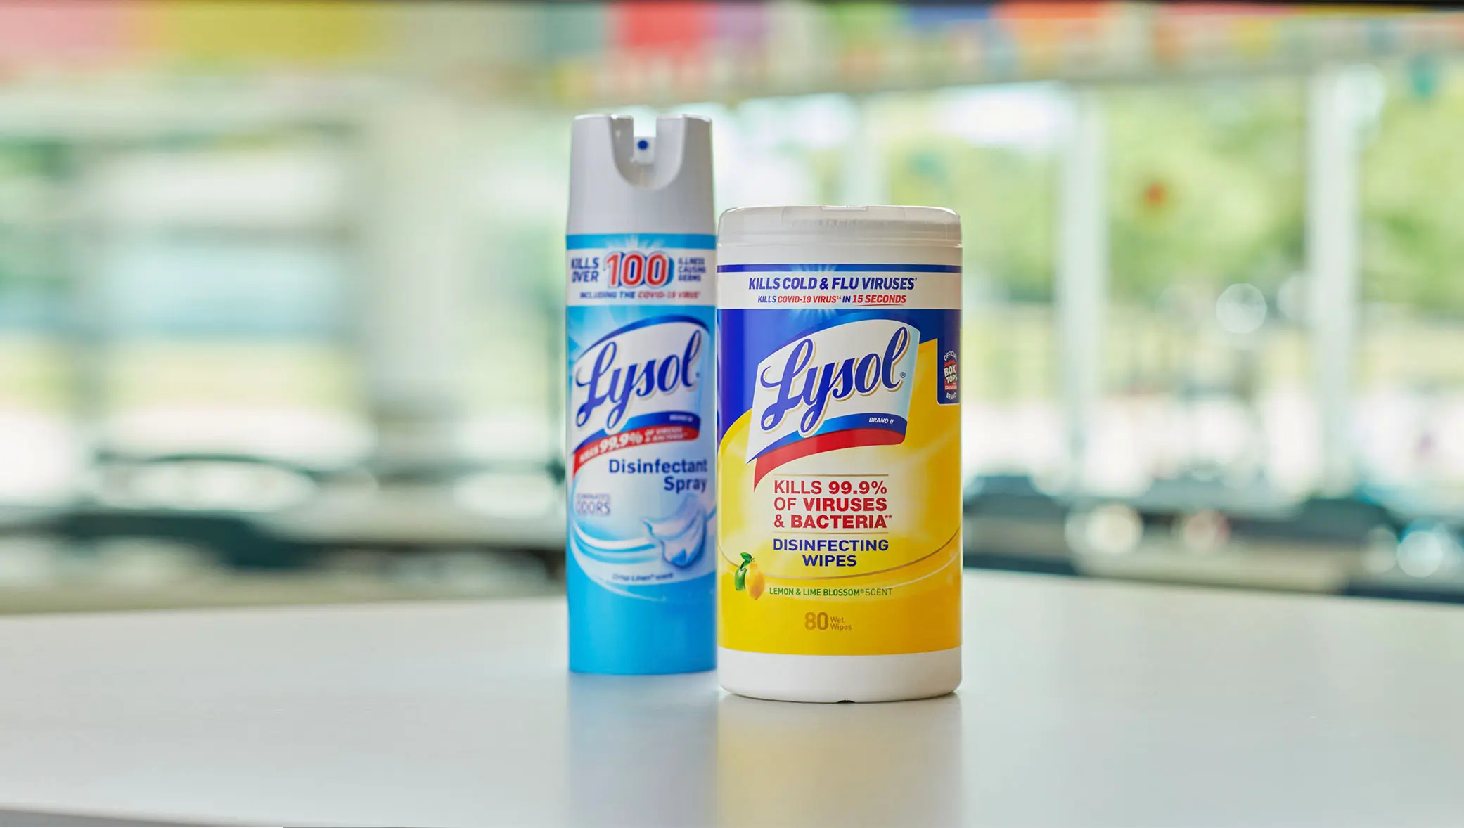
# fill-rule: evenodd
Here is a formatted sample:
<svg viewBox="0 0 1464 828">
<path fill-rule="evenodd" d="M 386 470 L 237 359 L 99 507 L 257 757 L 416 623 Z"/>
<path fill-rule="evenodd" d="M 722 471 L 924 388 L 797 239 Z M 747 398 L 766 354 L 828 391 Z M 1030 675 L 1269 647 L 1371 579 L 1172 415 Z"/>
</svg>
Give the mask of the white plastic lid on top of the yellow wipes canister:
<svg viewBox="0 0 1464 828">
<path fill-rule="evenodd" d="M 960 247 L 960 217 L 927 206 L 757 206 L 722 214 L 717 244 L 921 244 Z"/>
</svg>

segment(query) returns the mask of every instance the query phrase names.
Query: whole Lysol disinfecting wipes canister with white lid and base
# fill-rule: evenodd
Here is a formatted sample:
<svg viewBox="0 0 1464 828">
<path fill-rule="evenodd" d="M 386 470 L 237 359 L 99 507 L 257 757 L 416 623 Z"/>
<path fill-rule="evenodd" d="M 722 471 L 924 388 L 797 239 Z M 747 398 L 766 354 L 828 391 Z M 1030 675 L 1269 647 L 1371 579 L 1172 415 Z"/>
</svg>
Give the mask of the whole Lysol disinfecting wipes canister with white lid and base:
<svg viewBox="0 0 1464 828">
<path fill-rule="evenodd" d="M 960 219 L 719 228 L 719 679 L 792 701 L 960 683 Z"/>
</svg>

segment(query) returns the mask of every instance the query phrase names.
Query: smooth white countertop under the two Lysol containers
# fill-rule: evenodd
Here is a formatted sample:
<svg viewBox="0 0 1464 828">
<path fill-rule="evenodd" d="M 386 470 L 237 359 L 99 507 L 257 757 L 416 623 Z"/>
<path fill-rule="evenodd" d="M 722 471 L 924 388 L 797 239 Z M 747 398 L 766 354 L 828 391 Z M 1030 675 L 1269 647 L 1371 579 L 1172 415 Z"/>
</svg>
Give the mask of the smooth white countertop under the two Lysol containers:
<svg viewBox="0 0 1464 828">
<path fill-rule="evenodd" d="M 351 825 L 1458 825 L 1464 610 L 966 578 L 889 705 L 569 676 L 564 601 L 0 620 L 0 809 Z"/>
</svg>

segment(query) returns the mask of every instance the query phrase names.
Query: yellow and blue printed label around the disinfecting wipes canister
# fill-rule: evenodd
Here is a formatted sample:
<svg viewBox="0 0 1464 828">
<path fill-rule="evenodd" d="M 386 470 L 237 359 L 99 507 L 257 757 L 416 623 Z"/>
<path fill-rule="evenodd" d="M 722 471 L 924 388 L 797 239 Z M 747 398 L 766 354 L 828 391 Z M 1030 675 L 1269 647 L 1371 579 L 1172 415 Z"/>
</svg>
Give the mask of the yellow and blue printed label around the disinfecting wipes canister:
<svg viewBox="0 0 1464 828">
<path fill-rule="evenodd" d="M 959 647 L 959 266 L 720 271 L 720 645 Z"/>
</svg>

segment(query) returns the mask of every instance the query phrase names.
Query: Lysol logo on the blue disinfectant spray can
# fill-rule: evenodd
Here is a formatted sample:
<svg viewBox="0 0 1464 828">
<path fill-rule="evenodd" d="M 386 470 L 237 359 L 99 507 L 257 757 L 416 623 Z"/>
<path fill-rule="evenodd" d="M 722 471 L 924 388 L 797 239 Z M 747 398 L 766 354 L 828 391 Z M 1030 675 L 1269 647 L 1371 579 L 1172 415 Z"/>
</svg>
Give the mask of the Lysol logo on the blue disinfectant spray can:
<svg viewBox="0 0 1464 828">
<path fill-rule="evenodd" d="M 572 468 L 625 448 L 695 439 L 707 328 L 659 316 L 612 331 L 571 369 Z"/>
</svg>

